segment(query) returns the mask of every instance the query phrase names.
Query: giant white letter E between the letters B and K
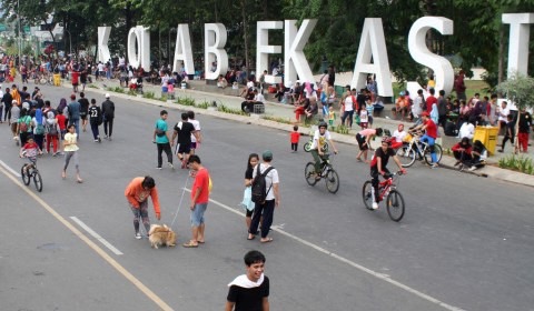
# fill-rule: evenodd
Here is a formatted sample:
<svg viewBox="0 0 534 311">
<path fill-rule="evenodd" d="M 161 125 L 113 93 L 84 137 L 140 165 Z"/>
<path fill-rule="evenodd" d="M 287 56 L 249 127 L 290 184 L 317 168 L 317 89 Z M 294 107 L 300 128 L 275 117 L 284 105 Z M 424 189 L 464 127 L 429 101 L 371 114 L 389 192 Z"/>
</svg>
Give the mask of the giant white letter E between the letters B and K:
<svg viewBox="0 0 534 311">
<path fill-rule="evenodd" d="M 283 29 L 281 21 L 258 21 L 256 34 L 256 76 L 259 77 L 264 70 L 269 71 L 269 54 L 281 53 L 281 46 L 269 46 L 269 29 Z M 280 83 L 281 77 L 267 74 L 267 83 Z"/>
</svg>

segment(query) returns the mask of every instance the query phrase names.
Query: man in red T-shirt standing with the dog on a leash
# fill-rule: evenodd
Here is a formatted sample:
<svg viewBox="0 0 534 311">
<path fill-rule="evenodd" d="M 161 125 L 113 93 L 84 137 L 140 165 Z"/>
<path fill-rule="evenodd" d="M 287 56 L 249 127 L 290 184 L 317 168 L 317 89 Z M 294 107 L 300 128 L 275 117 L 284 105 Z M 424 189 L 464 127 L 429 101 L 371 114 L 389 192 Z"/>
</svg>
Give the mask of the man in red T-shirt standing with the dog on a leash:
<svg viewBox="0 0 534 311">
<path fill-rule="evenodd" d="M 204 243 L 204 213 L 208 208 L 209 201 L 209 173 L 200 163 L 197 154 L 191 154 L 188 160 L 189 167 L 192 169 L 195 182 L 191 189 L 191 240 L 185 243 L 185 248 L 198 248 Z"/>
</svg>

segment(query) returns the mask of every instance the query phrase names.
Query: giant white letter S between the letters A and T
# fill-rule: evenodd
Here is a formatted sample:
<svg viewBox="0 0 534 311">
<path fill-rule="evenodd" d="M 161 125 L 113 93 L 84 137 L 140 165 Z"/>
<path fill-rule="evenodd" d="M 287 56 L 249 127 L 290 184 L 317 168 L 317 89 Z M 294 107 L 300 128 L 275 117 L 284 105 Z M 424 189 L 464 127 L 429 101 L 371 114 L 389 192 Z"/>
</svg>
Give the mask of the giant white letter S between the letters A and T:
<svg viewBox="0 0 534 311">
<path fill-rule="evenodd" d="M 426 32 L 432 28 L 436 29 L 442 34 L 453 34 L 454 31 L 453 21 L 447 18 L 421 18 L 416 20 L 412 26 L 412 29 L 409 29 L 408 51 L 416 62 L 434 70 L 436 93 L 438 90 L 444 90 L 445 93 L 448 94 L 453 90 L 454 70 L 453 66 L 446 58 L 434 54 L 426 47 Z"/>
</svg>

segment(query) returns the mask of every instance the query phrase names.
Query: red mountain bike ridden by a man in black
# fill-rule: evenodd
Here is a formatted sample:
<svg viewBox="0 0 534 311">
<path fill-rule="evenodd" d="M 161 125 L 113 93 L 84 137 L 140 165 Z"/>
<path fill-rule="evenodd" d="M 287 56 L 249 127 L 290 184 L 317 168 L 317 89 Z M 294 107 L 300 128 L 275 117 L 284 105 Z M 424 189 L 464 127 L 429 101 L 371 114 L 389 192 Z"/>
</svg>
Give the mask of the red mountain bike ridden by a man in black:
<svg viewBox="0 0 534 311">
<path fill-rule="evenodd" d="M 398 179 L 403 174 L 402 171 L 389 174 L 384 181 L 378 183 L 378 202 L 386 198 L 387 214 L 393 221 L 400 221 L 404 217 L 404 198 L 398 192 Z M 365 208 L 373 209 L 373 183 L 367 180 L 362 189 Z"/>
</svg>

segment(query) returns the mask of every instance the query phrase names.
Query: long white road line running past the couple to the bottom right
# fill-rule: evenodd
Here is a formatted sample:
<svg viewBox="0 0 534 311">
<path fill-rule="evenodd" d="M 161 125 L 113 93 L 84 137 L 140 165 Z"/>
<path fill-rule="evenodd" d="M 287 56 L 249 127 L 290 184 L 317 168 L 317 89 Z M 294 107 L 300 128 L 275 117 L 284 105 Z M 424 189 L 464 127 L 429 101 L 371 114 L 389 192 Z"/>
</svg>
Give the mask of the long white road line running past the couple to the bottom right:
<svg viewBox="0 0 534 311">
<path fill-rule="evenodd" d="M 191 192 L 190 189 L 186 189 L 186 190 L 187 190 L 188 192 Z M 233 208 L 230 208 L 230 207 L 228 207 L 228 205 L 226 205 L 226 204 L 224 204 L 224 203 L 221 203 L 221 202 L 218 202 L 218 201 L 216 201 L 216 200 L 214 200 L 214 199 L 209 199 L 209 201 L 212 202 L 212 203 L 215 203 L 215 204 L 217 204 L 217 205 L 219 205 L 219 207 L 221 207 L 221 208 L 224 208 L 224 209 L 227 210 L 227 211 L 230 211 L 230 212 L 236 213 L 236 214 L 238 214 L 238 215 L 245 217 L 244 213 L 241 213 L 241 212 L 237 211 L 236 209 L 233 209 Z M 299 242 L 299 243 L 301 243 L 301 244 L 304 244 L 304 245 L 307 245 L 307 247 L 309 247 L 309 248 L 312 248 L 312 249 L 314 249 L 314 250 L 316 250 L 316 251 L 318 251 L 318 252 L 320 252 L 320 253 L 324 253 L 324 254 L 326 254 L 326 255 L 329 255 L 329 257 L 332 257 L 332 258 L 334 258 L 334 259 L 336 259 L 336 260 L 338 260 L 338 261 L 340 261 L 340 262 L 344 262 L 344 263 L 346 263 L 346 264 L 348 264 L 348 265 L 350 265 L 350 267 L 353 267 L 353 268 L 355 268 L 355 269 L 357 269 L 357 270 L 359 270 L 359 271 L 362 271 L 362 272 L 365 272 L 365 273 L 367 273 L 367 274 L 369 274 L 369 275 L 373 275 L 373 277 L 375 277 L 375 278 L 377 278 L 377 279 L 379 279 L 379 280 L 382 280 L 382 281 L 388 282 L 389 284 L 392 284 L 392 285 L 394 285 L 394 287 L 397 287 L 397 288 L 399 288 L 399 289 L 403 289 L 403 290 L 405 290 L 405 291 L 407 291 L 407 292 L 409 292 L 409 293 L 412 293 L 412 294 L 415 294 L 415 295 L 417 295 L 417 297 L 419 297 L 419 298 L 422 298 L 422 299 L 424 299 L 424 300 L 426 300 L 426 301 L 428 301 L 428 302 L 432 302 L 432 303 L 434 303 L 434 304 L 437 304 L 437 305 L 439 305 L 439 307 L 442 307 L 442 308 L 444 308 L 444 309 L 446 309 L 446 310 L 449 310 L 449 311 L 465 311 L 465 310 L 462 309 L 462 308 L 447 304 L 447 303 L 445 303 L 445 302 L 443 302 L 443 301 L 441 301 L 441 300 L 438 300 L 438 299 L 433 298 L 432 295 L 428 295 L 428 294 L 426 294 L 426 293 L 424 293 L 424 292 L 421 292 L 421 291 L 418 291 L 418 290 L 416 290 L 416 289 L 413 289 L 413 288 L 411 288 L 411 287 L 408 287 L 408 285 L 406 285 L 406 284 L 404 284 L 404 283 L 400 283 L 400 282 L 398 282 L 398 281 L 389 278 L 388 274 L 384 274 L 384 273 L 376 272 L 376 271 L 374 271 L 374 270 L 372 270 L 372 269 L 368 269 L 368 268 L 366 268 L 366 267 L 364 267 L 364 265 L 362 265 L 362 264 L 358 264 L 358 263 L 356 263 L 356 262 L 354 262 L 354 261 L 352 261 L 352 260 L 349 260 L 349 259 L 347 259 L 347 258 L 344 258 L 344 257 L 338 255 L 338 254 L 336 254 L 336 253 L 334 253 L 334 252 L 330 252 L 329 250 L 324 249 L 324 248 L 322 248 L 322 247 L 319 247 L 319 245 L 317 245 L 317 244 L 314 244 L 314 243 L 312 243 L 312 242 L 309 242 L 309 241 L 306 241 L 306 240 L 304 240 L 304 239 L 301 239 L 301 238 L 298 238 L 297 235 L 294 235 L 294 234 L 291 234 L 291 233 L 288 233 L 288 232 L 284 231 L 283 229 L 280 229 L 281 227 L 283 227 L 283 225 L 273 225 L 271 229 L 273 229 L 274 231 L 276 231 L 276 232 L 278 232 L 278 233 L 280 233 L 280 234 L 283 234 L 283 235 L 286 235 L 287 238 L 290 238 L 290 239 L 293 239 L 293 240 L 295 240 L 295 241 L 297 241 L 297 242 Z"/>
</svg>

